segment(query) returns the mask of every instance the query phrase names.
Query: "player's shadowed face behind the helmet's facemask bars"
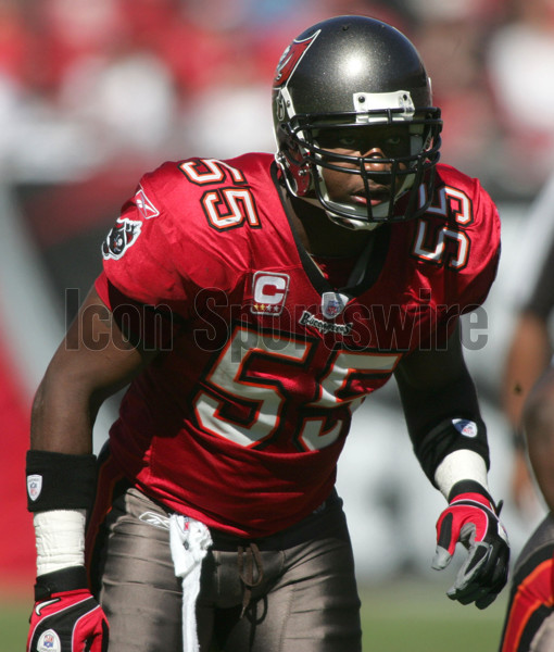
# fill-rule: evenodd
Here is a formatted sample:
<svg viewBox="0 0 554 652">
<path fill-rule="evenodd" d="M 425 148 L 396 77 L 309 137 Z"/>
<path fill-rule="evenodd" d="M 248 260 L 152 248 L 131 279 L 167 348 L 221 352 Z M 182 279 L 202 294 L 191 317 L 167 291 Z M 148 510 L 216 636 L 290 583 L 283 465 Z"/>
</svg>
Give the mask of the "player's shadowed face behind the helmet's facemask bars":
<svg viewBox="0 0 554 652">
<path fill-rule="evenodd" d="M 390 159 L 401 159 L 410 155 L 410 134 L 405 126 L 352 127 L 322 133 L 317 137 L 319 147 L 335 154 L 365 158 L 364 165 L 368 179 L 370 198 L 366 197 L 364 180 L 361 175 L 342 173 L 336 170 L 323 168 L 323 177 L 329 199 L 340 203 L 352 203 L 377 206 L 391 200 L 391 177 L 386 173 L 391 171 Z M 336 162 L 344 168 L 360 168 L 356 162 Z M 399 170 L 405 170 L 402 163 Z M 379 173 L 374 174 L 372 173 Z M 385 174 L 383 174 L 385 173 Z"/>
</svg>

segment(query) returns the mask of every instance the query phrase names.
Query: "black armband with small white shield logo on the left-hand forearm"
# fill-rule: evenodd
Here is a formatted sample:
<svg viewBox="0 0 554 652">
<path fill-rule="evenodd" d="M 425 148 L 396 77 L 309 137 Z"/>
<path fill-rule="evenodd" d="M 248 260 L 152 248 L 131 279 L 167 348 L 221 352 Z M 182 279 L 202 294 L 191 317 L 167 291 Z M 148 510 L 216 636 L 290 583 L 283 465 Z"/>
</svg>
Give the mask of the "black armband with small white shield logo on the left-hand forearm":
<svg viewBox="0 0 554 652">
<path fill-rule="evenodd" d="M 95 500 L 95 455 L 27 451 L 27 509 L 88 510 Z"/>
</svg>

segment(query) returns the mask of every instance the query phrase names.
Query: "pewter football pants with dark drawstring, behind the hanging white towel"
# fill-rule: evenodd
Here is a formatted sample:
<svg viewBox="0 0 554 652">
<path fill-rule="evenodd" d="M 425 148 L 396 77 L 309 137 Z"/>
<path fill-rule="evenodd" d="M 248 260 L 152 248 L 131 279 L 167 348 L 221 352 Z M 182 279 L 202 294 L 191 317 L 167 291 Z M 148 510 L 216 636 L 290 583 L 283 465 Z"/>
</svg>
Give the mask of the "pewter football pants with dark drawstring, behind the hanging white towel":
<svg viewBox="0 0 554 652">
<path fill-rule="evenodd" d="M 181 589 L 166 512 L 135 489 L 98 543 L 109 652 L 180 652 Z M 280 536 L 212 531 L 197 624 L 201 652 L 360 652 L 360 600 L 342 503 L 333 496 Z M 99 576 L 98 576 L 99 575 Z"/>
</svg>

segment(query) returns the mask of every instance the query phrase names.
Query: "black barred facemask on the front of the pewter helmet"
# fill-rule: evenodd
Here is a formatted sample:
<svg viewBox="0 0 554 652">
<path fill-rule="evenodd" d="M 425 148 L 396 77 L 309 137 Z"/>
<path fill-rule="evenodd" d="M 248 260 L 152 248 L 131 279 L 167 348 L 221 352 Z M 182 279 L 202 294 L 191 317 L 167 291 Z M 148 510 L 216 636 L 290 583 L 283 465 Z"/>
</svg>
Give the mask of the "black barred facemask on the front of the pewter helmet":
<svg viewBox="0 0 554 652">
<path fill-rule="evenodd" d="M 281 149 L 278 159 L 281 167 L 285 164 L 289 191 L 319 203 L 330 220 L 351 229 L 373 229 L 385 222 L 404 222 L 423 214 L 432 198 L 435 165 L 440 156 L 439 115 L 439 109 L 429 108 L 407 120 L 402 109 L 372 110 L 364 115 L 294 116 L 282 125 L 288 130 L 289 147 Z M 375 159 L 338 153 L 326 147 L 328 134 L 339 138 L 341 133 L 369 128 L 378 140 L 379 131 L 389 125 L 402 125 L 407 131 L 408 147 L 401 155 Z M 375 170 L 376 163 L 382 170 Z M 335 201 L 329 196 L 324 170 L 361 176 L 367 203 Z M 427 199 L 425 205 L 419 205 L 421 184 L 427 190 L 423 193 Z M 376 198 L 372 186 L 388 188 L 389 198 L 381 196 L 381 202 L 372 205 L 372 199 Z"/>
</svg>

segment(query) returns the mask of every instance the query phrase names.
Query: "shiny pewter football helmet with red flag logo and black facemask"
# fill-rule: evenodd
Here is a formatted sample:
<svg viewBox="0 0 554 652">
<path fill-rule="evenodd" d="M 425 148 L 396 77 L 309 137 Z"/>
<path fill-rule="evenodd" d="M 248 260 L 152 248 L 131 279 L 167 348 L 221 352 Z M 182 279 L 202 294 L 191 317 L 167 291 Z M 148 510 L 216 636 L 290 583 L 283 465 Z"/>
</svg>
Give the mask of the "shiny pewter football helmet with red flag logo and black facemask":
<svg viewBox="0 0 554 652">
<path fill-rule="evenodd" d="M 317 200 L 335 222 L 375 228 L 428 208 L 440 155 L 440 109 L 432 105 L 430 80 L 417 50 L 394 27 L 364 16 L 339 16 L 303 32 L 277 66 L 273 116 L 276 160 L 289 191 Z M 326 149 L 329 141 L 340 141 L 341 134 L 378 134 L 390 125 L 405 128 L 405 150 L 378 159 L 379 171 L 375 156 Z M 333 201 L 323 168 L 361 175 L 367 202 Z M 419 192 L 421 185 L 427 191 Z M 374 205 L 372 187 L 380 192 Z"/>
</svg>

